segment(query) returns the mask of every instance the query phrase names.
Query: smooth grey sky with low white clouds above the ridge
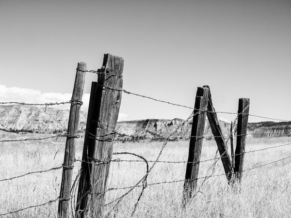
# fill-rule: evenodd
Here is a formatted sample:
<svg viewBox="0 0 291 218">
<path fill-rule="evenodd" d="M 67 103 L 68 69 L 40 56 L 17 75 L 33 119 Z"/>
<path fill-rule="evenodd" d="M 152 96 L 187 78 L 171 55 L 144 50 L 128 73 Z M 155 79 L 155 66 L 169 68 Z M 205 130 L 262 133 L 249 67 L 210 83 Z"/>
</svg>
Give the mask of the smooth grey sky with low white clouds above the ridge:
<svg viewBox="0 0 291 218">
<path fill-rule="evenodd" d="M 111 53 L 130 92 L 194 107 L 209 85 L 217 111 L 237 112 L 245 97 L 251 114 L 291 120 L 290 39 L 291 0 L 0 0 L 0 101 L 68 101 L 77 63 L 97 70 Z M 191 109 L 123 93 L 120 113 L 185 119 Z"/>
</svg>

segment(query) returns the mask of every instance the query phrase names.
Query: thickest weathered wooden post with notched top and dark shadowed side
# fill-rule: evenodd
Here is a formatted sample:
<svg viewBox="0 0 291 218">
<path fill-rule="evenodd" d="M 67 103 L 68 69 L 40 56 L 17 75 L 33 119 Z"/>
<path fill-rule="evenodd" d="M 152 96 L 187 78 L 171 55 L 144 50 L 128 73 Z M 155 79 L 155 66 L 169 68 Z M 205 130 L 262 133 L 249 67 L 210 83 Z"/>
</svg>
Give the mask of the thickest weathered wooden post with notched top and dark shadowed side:
<svg viewBox="0 0 291 218">
<path fill-rule="evenodd" d="M 122 89 L 123 64 L 122 58 L 105 54 L 103 65 L 98 70 L 104 74 L 98 74 L 98 82 L 92 83 L 77 197 L 77 218 L 102 216 L 113 150 L 114 135 L 110 134 L 115 131 L 122 95 L 121 91 L 116 90 Z M 103 137 L 94 137 L 101 135 Z"/>
</svg>

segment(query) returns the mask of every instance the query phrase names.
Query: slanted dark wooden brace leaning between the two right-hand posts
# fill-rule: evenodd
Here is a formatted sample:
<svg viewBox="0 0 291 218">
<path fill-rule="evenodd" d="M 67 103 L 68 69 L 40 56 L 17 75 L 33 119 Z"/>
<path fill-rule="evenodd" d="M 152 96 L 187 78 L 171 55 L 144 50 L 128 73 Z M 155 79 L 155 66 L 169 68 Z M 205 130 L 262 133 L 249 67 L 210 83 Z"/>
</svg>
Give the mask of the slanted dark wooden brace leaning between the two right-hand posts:
<svg viewBox="0 0 291 218">
<path fill-rule="evenodd" d="M 209 89 L 208 86 L 204 86 L 204 87 Z M 221 128 L 219 125 L 219 121 L 217 118 L 217 114 L 216 114 L 215 109 L 213 107 L 210 90 L 209 90 L 209 94 L 208 94 L 207 110 L 208 110 L 207 117 L 208 117 L 209 125 L 211 128 L 212 134 L 214 136 L 214 140 L 216 141 L 217 148 L 218 148 L 219 154 L 221 156 L 223 168 L 224 168 L 225 173 L 226 173 L 226 178 L 227 178 L 228 183 L 229 183 L 231 181 L 231 178 L 232 178 L 233 169 L 231 166 L 231 160 L 230 160 L 230 156 L 229 156 L 229 153 L 227 150 L 226 141 L 225 141 L 224 136 L 222 134 L 222 131 L 221 131 Z"/>
</svg>

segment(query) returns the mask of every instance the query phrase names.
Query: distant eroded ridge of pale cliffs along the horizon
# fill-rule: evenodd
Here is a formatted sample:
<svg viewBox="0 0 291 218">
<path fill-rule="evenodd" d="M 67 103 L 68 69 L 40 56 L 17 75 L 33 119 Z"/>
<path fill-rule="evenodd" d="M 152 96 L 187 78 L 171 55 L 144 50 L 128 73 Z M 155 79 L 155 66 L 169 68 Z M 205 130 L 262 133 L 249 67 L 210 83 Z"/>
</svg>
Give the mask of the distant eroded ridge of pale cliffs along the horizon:
<svg viewBox="0 0 291 218">
<path fill-rule="evenodd" d="M 69 110 L 55 108 L 39 108 L 30 105 L 0 106 L 0 129 L 9 132 L 32 133 L 65 133 Z M 86 127 L 87 112 L 81 111 L 79 132 Z M 138 138 L 168 137 L 184 120 L 146 119 L 121 121 L 117 123 L 116 131 L 124 136 Z M 229 135 L 230 124 L 219 121 L 224 135 Z M 192 120 L 186 122 L 172 136 L 190 136 Z M 259 122 L 248 125 L 248 133 L 254 137 L 291 136 L 291 122 Z M 211 136 L 211 129 L 206 120 L 205 136 Z M 1 137 L 1 136 L 0 136 Z"/>
</svg>

